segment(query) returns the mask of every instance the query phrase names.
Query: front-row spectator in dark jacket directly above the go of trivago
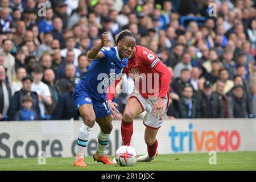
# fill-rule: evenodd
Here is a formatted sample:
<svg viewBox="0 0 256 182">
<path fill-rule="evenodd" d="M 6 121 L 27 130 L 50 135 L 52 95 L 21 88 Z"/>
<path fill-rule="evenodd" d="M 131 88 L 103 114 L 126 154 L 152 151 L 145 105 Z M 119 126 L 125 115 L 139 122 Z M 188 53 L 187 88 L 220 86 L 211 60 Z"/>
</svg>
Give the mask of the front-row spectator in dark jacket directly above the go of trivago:
<svg viewBox="0 0 256 182">
<path fill-rule="evenodd" d="M 232 95 L 228 98 L 230 118 L 253 117 L 250 101 L 243 92 L 243 85 L 234 85 Z"/>
</svg>

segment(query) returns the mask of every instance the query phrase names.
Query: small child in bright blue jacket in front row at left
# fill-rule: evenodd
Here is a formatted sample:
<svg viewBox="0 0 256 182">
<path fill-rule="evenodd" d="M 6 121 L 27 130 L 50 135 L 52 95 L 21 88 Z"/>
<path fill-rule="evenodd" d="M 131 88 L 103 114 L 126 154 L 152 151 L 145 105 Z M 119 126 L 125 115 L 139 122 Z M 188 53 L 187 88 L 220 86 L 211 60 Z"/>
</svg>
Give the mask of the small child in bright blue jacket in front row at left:
<svg viewBox="0 0 256 182">
<path fill-rule="evenodd" d="M 33 100 L 31 96 L 22 97 L 22 108 L 15 114 L 15 121 L 34 121 L 38 120 L 38 115 L 32 107 Z"/>
</svg>

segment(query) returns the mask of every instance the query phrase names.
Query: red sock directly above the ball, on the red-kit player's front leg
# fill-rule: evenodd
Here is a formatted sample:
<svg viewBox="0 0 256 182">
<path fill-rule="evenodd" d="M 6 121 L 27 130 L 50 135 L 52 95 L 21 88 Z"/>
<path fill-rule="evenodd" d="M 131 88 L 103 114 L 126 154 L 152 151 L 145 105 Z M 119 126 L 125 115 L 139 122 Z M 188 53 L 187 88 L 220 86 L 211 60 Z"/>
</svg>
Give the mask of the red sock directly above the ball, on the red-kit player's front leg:
<svg viewBox="0 0 256 182">
<path fill-rule="evenodd" d="M 124 122 L 122 119 L 121 135 L 122 135 L 123 145 L 130 146 L 131 135 L 133 135 L 133 121 Z"/>
</svg>

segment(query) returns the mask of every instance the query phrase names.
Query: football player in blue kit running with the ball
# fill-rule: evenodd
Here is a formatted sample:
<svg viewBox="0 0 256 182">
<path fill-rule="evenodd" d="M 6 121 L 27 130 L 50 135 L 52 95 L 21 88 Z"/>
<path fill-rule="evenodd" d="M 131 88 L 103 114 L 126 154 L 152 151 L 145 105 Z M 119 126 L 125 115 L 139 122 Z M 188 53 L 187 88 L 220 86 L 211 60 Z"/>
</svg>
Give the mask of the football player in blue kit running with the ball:
<svg viewBox="0 0 256 182">
<path fill-rule="evenodd" d="M 95 121 L 100 126 L 100 132 L 93 159 L 104 164 L 113 164 L 105 155 L 113 128 L 106 90 L 127 66 L 128 57 L 136 42 L 129 30 L 123 30 L 118 34 L 115 47 L 105 47 L 107 42 L 108 34 L 104 32 L 101 35 L 101 43 L 88 51 L 88 57 L 93 59 L 93 62 L 73 92 L 73 102 L 83 121 L 79 129 L 74 166 L 86 166 L 85 147 Z"/>
</svg>

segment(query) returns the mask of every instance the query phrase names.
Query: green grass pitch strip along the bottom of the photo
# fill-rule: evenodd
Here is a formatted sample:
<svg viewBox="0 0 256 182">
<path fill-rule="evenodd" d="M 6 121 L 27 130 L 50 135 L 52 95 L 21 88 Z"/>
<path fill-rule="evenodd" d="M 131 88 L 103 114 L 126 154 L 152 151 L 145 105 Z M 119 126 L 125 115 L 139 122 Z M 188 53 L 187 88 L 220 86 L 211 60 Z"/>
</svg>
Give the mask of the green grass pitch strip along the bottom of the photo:
<svg viewBox="0 0 256 182">
<path fill-rule="evenodd" d="M 85 171 L 136 171 L 136 170 L 256 170 L 256 151 L 217 152 L 217 164 L 210 165 L 208 153 L 158 155 L 150 163 L 138 162 L 133 167 L 119 167 L 118 164 L 104 165 L 86 157 L 87 167 L 73 167 L 75 158 L 47 158 L 45 165 L 39 165 L 37 158 L 0 159 L 3 170 L 85 170 Z M 113 159 L 113 156 L 110 156 Z"/>
</svg>

